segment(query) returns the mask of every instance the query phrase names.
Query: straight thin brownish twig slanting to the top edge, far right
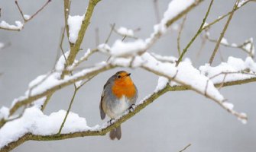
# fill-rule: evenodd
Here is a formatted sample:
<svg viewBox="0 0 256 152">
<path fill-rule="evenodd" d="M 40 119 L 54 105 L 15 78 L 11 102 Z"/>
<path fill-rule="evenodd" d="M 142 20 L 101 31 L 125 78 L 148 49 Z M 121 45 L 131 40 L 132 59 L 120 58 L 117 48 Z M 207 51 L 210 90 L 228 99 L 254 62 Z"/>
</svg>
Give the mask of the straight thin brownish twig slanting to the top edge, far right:
<svg viewBox="0 0 256 152">
<path fill-rule="evenodd" d="M 229 25 L 229 23 L 230 23 L 230 21 L 231 21 L 231 19 L 232 19 L 232 17 L 233 17 L 233 14 L 234 14 L 234 12 L 235 12 L 235 9 L 238 7 L 238 3 L 239 3 L 239 0 L 237 0 L 237 1 L 235 2 L 235 5 L 234 5 L 234 7 L 233 7 L 233 11 L 232 11 L 232 13 L 229 15 L 228 21 L 225 23 L 225 26 L 224 26 L 224 28 L 223 28 L 223 30 L 222 30 L 222 33 L 220 33 L 218 42 L 216 43 L 215 48 L 214 48 L 214 50 L 213 50 L 213 52 L 212 52 L 212 55 L 211 55 L 211 57 L 210 57 L 210 59 L 209 59 L 209 65 L 212 65 L 213 59 L 214 59 L 214 57 L 215 57 L 215 54 L 216 54 L 216 52 L 217 52 L 218 49 L 219 49 L 219 44 L 220 44 L 220 42 L 222 41 L 222 38 L 224 37 L 225 31 L 228 29 L 228 25 Z"/>
</svg>

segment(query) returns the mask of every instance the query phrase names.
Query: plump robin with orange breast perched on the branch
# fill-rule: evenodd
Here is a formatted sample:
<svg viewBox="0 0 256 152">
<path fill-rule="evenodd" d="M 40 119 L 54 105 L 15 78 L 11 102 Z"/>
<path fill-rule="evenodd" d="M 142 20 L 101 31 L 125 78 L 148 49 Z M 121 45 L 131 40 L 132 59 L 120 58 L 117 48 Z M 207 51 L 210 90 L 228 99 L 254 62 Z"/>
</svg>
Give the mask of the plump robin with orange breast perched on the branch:
<svg viewBox="0 0 256 152">
<path fill-rule="evenodd" d="M 99 104 L 101 119 L 107 114 L 111 119 L 122 116 L 124 112 L 135 104 L 138 90 L 127 71 L 118 71 L 105 83 Z M 122 136 L 121 126 L 110 131 L 109 137 L 118 140 Z"/>
</svg>

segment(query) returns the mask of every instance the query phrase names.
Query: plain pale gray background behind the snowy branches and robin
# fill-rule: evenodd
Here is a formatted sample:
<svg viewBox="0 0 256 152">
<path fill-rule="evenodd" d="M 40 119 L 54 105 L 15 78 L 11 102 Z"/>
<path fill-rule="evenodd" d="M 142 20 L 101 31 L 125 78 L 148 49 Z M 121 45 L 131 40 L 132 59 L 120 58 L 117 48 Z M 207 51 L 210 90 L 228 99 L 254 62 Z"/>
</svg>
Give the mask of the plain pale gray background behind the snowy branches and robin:
<svg viewBox="0 0 256 152">
<path fill-rule="evenodd" d="M 37 11 L 44 1 L 18 1 L 24 14 Z M 167 9 L 169 0 L 159 0 L 160 14 Z M 235 0 L 216 0 L 207 22 L 232 9 Z M 71 14 L 83 14 L 88 1 L 72 2 Z M 187 17 L 186 27 L 182 34 L 182 47 L 190 40 L 199 27 L 206 12 L 209 1 L 203 2 Z M 237 11 L 232 19 L 225 37 L 231 43 L 242 43 L 251 36 L 256 38 L 255 3 Z M 14 1 L 1 0 L 1 20 L 14 23 L 21 20 Z M 179 21 L 180 22 L 180 21 Z M 99 27 L 100 42 L 105 41 L 109 33 L 109 24 L 117 27 L 141 27 L 137 33 L 146 38 L 157 23 L 154 14 L 153 0 L 103 0 L 96 6 L 92 21 L 87 30 L 82 48 L 95 48 L 95 28 Z M 213 38 L 219 36 L 222 21 L 212 28 Z M 50 2 L 47 8 L 25 25 L 21 32 L 0 30 L 0 42 L 11 43 L 6 49 L 0 50 L 0 101 L 1 106 L 10 106 L 15 97 L 24 94 L 28 83 L 39 74 L 44 74 L 53 67 L 63 27 L 63 1 Z M 113 34 L 110 44 L 120 38 Z M 162 55 L 177 56 L 177 32 L 170 31 L 151 51 Z M 199 59 L 196 53 L 200 46 L 198 38 L 186 54 L 199 65 L 208 62 L 213 50 L 212 43 L 207 43 Z M 67 49 L 65 40 L 64 48 Z M 245 59 L 246 55 L 239 49 L 221 47 L 226 60 L 229 55 Z M 83 51 L 82 51 L 83 52 Z M 220 62 L 216 55 L 215 65 Z M 106 59 L 104 55 L 94 55 L 86 65 Z M 120 68 L 121 69 L 121 68 Z M 116 71 L 107 71 L 79 90 L 72 107 L 73 112 L 86 117 L 88 125 L 102 124 L 99 117 L 99 99 L 105 81 Z M 125 69 L 131 71 L 131 78 L 139 90 L 139 100 L 154 90 L 157 76 L 141 69 Z M 208 100 L 192 91 L 170 92 L 160 97 L 150 106 L 129 119 L 122 125 L 122 140 L 111 141 L 109 136 L 73 138 L 65 141 L 27 141 L 14 151 L 179 151 L 187 144 L 192 146 L 186 151 L 255 151 L 256 150 L 256 112 L 254 83 L 221 90 L 229 102 L 235 104 L 239 112 L 248 113 L 248 124 L 242 125 L 235 116 L 230 115 L 212 100 Z M 67 109 L 73 87 L 64 88 L 54 94 L 46 108 L 47 114 L 59 109 Z M 105 120 L 106 121 L 106 120 Z"/>
</svg>

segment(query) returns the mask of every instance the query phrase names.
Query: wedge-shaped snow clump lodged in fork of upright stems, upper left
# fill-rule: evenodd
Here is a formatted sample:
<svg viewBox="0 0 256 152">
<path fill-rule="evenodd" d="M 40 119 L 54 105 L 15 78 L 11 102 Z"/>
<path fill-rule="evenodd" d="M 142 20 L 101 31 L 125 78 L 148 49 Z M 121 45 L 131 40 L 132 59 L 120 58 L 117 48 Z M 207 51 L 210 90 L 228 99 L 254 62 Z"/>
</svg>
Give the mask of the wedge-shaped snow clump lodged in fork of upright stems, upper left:
<svg viewBox="0 0 256 152">
<path fill-rule="evenodd" d="M 81 28 L 82 21 L 83 21 L 84 17 L 85 17 L 85 15 L 83 15 L 83 16 L 79 16 L 79 15 L 71 16 L 71 15 L 69 15 L 69 17 L 67 19 L 67 24 L 69 25 L 69 28 L 70 28 L 70 30 L 69 30 L 70 43 L 76 43 L 78 33 L 79 33 L 80 28 Z"/>
</svg>

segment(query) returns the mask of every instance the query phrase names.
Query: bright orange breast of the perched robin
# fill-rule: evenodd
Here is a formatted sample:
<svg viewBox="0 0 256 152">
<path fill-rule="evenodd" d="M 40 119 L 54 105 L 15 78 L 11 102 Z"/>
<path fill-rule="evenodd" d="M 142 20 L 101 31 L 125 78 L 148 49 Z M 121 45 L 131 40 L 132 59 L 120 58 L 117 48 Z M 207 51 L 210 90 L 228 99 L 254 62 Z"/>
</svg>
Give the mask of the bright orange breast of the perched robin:
<svg viewBox="0 0 256 152">
<path fill-rule="evenodd" d="M 136 89 L 133 82 L 131 81 L 131 78 L 125 78 L 122 80 L 116 80 L 114 82 L 112 86 L 112 93 L 114 93 L 118 98 L 121 98 L 123 95 L 125 95 L 125 97 L 131 98 L 134 97 Z"/>
</svg>

